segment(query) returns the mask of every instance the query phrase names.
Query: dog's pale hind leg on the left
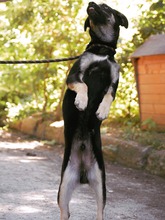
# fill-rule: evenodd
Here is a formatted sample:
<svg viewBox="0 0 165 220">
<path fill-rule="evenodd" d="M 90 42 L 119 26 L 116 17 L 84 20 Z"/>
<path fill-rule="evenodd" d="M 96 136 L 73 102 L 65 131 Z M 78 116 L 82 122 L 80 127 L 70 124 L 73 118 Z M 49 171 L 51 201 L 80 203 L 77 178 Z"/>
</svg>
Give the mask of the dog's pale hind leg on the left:
<svg viewBox="0 0 165 220">
<path fill-rule="evenodd" d="M 72 167 L 71 163 L 68 162 L 68 165 L 63 174 L 58 195 L 58 204 L 61 211 L 61 220 L 69 219 L 69 201 L 77 184 L 78 172 Z"/>
</svg>

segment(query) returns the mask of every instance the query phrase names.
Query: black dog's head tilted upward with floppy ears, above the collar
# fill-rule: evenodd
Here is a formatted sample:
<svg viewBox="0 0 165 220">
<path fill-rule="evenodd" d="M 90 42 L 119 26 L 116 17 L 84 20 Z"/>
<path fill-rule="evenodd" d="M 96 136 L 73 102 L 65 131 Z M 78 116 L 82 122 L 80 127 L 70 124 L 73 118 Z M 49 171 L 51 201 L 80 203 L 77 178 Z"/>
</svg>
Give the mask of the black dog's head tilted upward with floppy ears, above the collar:
<svg viewBox="0 0 165 220">
<path fill-rule="evenodd" d="M 90 2 L 87 7 L 88 18 L 84 29 L 89 27 L 92 41 L 112 43 L 116 46 L 119 37 L 119 26 L 128 28 L 127 18 L 106 4 L 97 5 Z"/>
</svg>

